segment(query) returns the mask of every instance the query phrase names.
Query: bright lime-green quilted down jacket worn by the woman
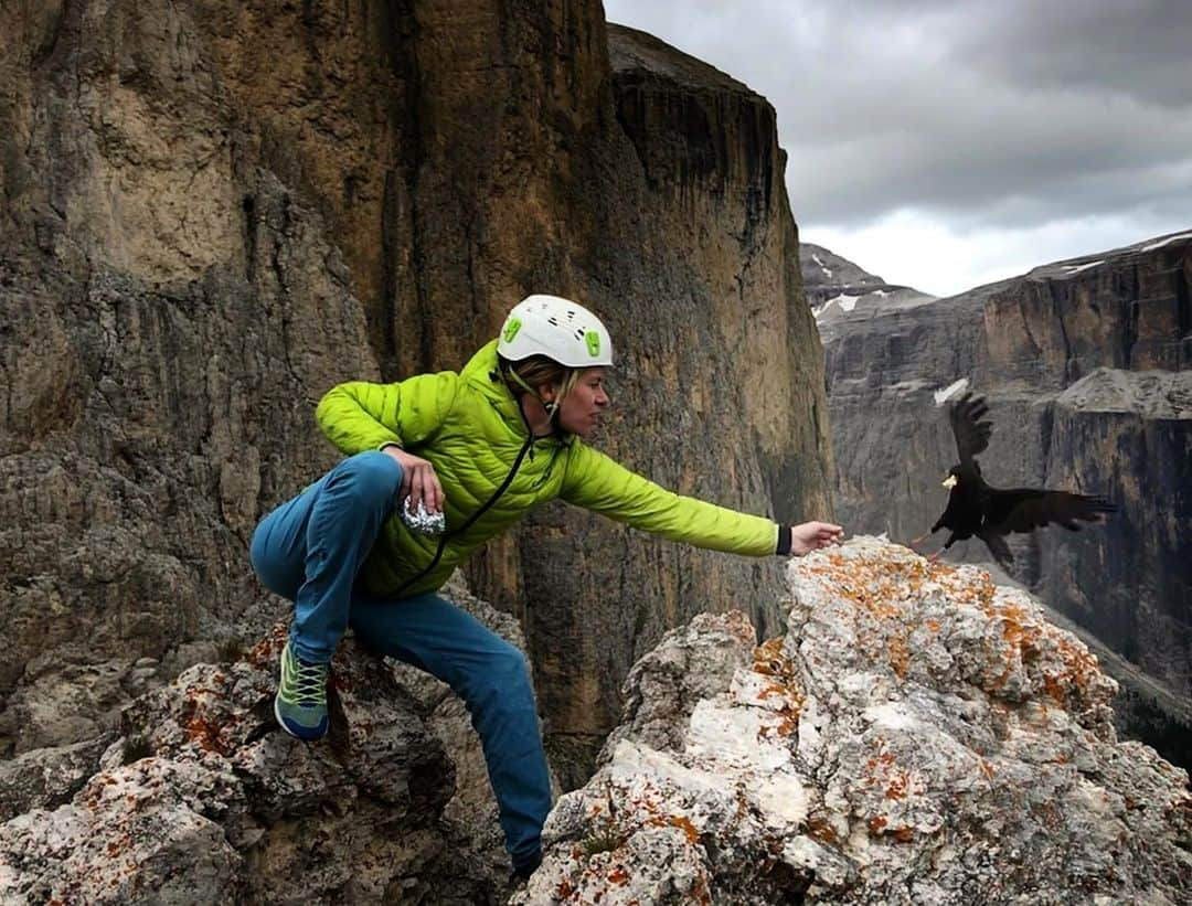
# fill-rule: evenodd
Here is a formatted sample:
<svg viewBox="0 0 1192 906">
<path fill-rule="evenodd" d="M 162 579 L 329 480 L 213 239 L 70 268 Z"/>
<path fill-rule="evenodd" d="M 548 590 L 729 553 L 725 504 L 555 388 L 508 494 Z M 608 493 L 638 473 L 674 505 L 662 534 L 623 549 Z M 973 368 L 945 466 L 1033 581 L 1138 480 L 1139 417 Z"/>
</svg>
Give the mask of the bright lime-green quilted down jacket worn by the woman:
<svg viewBox="0 0 1192 906">
<path fill-rule="evenodd" d="M 323 433 L 347 454 L 397 443 L 430 461 L 446 496 L 447 541 L 411 532 L 395 515 L 365 563 L 365 589 L 409 597 L 440 588 L 452 570 L 530 509 L 555 497 L 634 528 L 715 551 L 760 557 L 777 547 L 768 519 L 682 497 L 617 465 L 578 438 L 542 438 L 522 458 L 501 497 L 462 526 L 504 483 L 529 429 L 504 381 L 496 377 L 497 342 L 480 349 L 459 374 L 420 374 L 397 384 L 340 384 L 319 401 Z"/>
</svg>

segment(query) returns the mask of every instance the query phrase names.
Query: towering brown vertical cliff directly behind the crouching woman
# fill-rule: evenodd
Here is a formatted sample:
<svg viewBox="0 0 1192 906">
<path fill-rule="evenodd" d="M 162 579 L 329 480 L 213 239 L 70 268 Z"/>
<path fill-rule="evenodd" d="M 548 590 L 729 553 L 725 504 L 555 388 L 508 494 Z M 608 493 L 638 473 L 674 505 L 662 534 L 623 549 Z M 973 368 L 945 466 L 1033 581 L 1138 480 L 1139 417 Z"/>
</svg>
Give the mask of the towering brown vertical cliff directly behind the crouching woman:
<svg viewBox="0 0 1192 906">
<path fill-rule="evenodd" d="M 272 625 L 246 547 L 336 459 L 318 397 L 460 367 L 529 291 L 617 337 L 601 446 L 827 515 L 774 111 L 600 4 L 7 4 L 0 126 L 7 752 L 92 738 Z M 547 508 L 471 579 L 584 736 L 665 628 L 771 601 L 778 569 Z"/>
</svg>

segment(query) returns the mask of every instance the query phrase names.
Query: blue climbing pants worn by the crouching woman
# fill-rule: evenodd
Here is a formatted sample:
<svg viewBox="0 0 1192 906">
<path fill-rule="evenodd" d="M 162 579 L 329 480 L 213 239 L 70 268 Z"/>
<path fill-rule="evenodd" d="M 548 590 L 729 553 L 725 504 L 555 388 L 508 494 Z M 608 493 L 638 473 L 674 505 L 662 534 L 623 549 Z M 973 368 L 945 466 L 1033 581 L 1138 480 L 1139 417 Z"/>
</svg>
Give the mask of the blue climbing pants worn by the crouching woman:
<svg viewBox="0 0 1192 906">
<path fill-rule="evenodd" d="M 356 575 L 397 508 L 402 467 L 386 453 L 342 460 L 256 527 L 253 569 L 294 602 L 291 650 L 327 663 L 348 626 L 368 649 L 446 682 L 472 715 L 515 867 L 533 860 L 551 808 L 538 710 L 522 652 L 434 594 L 370 597 Z"/>
</svg>

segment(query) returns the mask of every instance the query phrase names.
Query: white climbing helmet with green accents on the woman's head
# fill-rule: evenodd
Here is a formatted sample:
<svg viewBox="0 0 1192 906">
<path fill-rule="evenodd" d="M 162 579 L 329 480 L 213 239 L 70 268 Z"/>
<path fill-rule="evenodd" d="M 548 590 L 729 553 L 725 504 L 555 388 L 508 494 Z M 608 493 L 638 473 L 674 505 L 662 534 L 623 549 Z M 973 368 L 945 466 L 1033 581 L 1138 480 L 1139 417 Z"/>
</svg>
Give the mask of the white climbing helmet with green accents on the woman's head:
<svg viewBox="0 0 1192 906">
<path fill-rule="evenodd" d="M 514 305 L 497 337 L 508 361 L 545 355 L 567 368 L 613 364 L 608 328 L 583 305 L 558 296 L 527 296 Z"/>
</svg>

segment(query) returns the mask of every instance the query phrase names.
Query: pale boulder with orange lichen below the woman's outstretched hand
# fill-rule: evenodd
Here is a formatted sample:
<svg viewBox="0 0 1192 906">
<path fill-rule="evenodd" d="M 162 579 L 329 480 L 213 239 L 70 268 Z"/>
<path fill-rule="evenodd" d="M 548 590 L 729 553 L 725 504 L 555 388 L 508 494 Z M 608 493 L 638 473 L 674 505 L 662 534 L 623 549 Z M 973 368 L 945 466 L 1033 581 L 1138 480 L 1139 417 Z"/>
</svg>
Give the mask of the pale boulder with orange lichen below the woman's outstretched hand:
<svg viewBox="0 0 1192 906">
<path fill-rule="evenodd" d="M 784 635 L 668 634 L 514 901 L 1185 902 L 1187 774 L 1028 594 L 855 539 L 791 563 Z"/>
</svg>

